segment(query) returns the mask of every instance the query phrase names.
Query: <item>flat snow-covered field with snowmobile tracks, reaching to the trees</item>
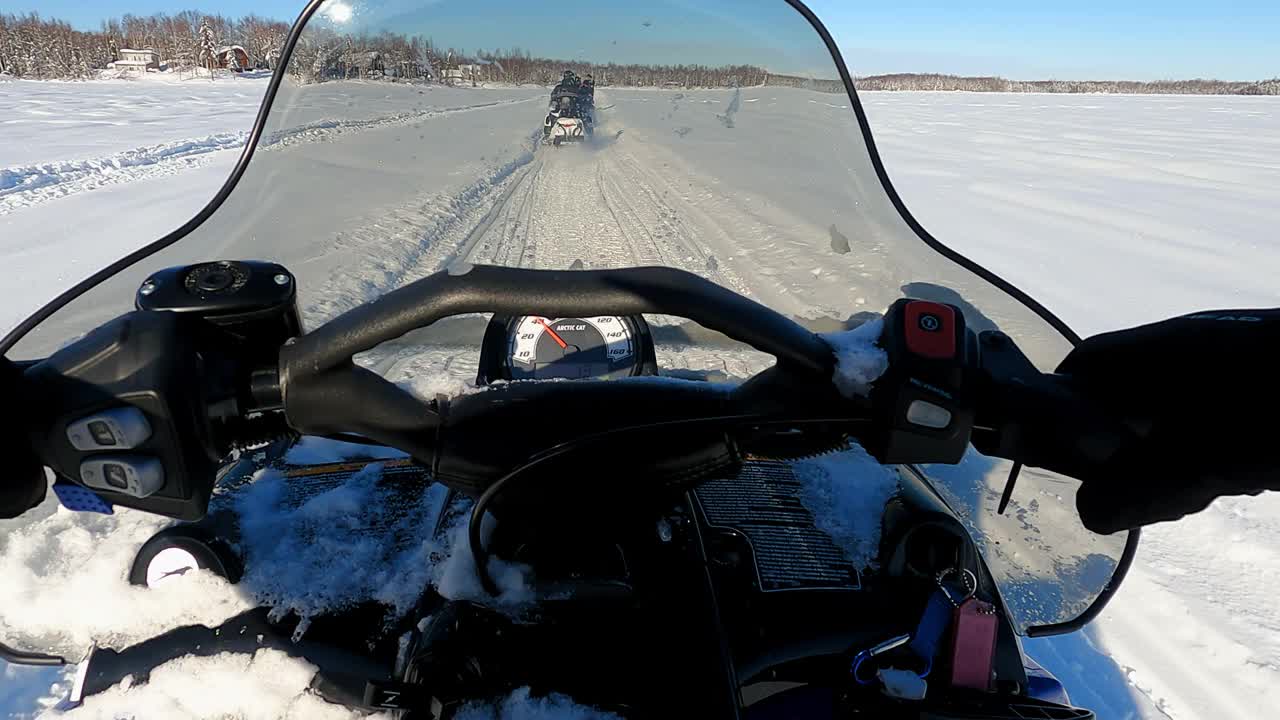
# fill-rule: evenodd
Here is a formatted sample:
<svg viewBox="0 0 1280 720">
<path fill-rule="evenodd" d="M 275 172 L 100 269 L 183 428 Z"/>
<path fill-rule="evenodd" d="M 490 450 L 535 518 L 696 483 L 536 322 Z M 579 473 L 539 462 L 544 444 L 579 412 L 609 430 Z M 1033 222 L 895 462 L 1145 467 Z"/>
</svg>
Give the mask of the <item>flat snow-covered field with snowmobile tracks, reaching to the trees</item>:
<svg viewBox="0 0 1280 720">
<path fill-rule="evenodd" d="M 0 256 L 17 270 L 0 325 L 204 205 L 264 88 L 262 78 L 0 82 Z M 841 96 L 602 90 L 598 104 L 611 108 L 602 142 L 554 152 L 534 142 L 544 95 L 378 83 L 287 91 L 229 211 L 201 229 L 195 247 L 156 264 L 284 261 L 303 281 L 311 323 L 460 259 L 682 266 L 826 329 L 883 309 L 908 282 L 947 277 L 920 272 L 928 260 L 892 246 L 891 222 L 858 204 L 874 188 L 832 181 L 854 164 L 833 152 L 852 142 L 831 129 L 850 122 Z M 1280 304 L 1277 99 L 869 94 L 864 102 L 916 218 L 1083 334 L 1188 310 Z M 833 250 L 841 240 L 851 252 Z M 145 272 L 68 309 L 60 327 L 87 328 L 125 309 Z M 58 341 L 33 338 L 31 350 Z M 662 365 L 691 373 L 762 366 L 728 346 L 660 350 Z M 426 383 L 421 392 L 442 389 L 442 369 L 457 382 L 475 370 L 474 356 L 448 350 L 388 347 L 369 361 L 397 380 Z M 6 585 L 6 606 L 22 593 L 59 597 L 65 588 L 38 587 L 41 573 L 74 575 L 82 593 L 119 580 L 108 575 L 127 564 L 127 543 L 84 575 L 15 547 L 56 538 L 82 556 L 102 532 L 65 516 L 44 523 L 44 534 L 0 538 L 5 577 L 37 585 Z M 128 515 L 119 523 L 114 537 L 138 542 L 161 524 Z M 1152 528 L 1100 623 L 1027 647 L 1106 720 L 1270 717 L 1280 707 L 1280 610 L 1263 579 L 1280 577 L 1277 541 L 1275 493 Z M 220 602 L 204 610 L 212 615 L 243 602 L 210 596 Z M 101 616 L 83 624 L 109 625 Z M 271 670 L 278 661 L 259 662 Z M 0 707 L 29 711 L 49 683 L 46 671 L 6 667 Z M 113 702 L 129 706 L 127 694 Z M 282 702 L 283 714 L 291 706 Z"/>
</svg>

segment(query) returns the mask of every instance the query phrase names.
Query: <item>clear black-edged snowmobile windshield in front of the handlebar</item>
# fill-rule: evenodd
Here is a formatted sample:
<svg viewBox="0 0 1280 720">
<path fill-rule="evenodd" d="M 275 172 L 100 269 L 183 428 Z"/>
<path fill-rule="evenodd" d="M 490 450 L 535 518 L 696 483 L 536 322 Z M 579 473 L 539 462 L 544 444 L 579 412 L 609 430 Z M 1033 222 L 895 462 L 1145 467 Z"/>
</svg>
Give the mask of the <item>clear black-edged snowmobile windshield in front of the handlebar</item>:
<svg viewBox="0 0 1280 720">
<path fill-rule="evenodd" d="M 998 328 L 1055 368 L 1071 341 L 897 200 L 806 13 L 787 0 L 312 4 L 225 196 L 9 356 L 45 356 L 132 309 L 159 268 L 261 259 L 296 273 L 310 328 L 456 263 L 666 265 L 815 332 L 904 296 L 955 304 L 970 328 Z M 553 122 L 564 68 L 591 74 L 594 106 Z M 671 375 L 737 382 L 772 361 L 680 318 L 648 320 Z M 438 323 L 358 360 L 422 395 L 452 392 L 474 382 L 484 328 Z M 1018 628 L 1070 621 L 1107 587 L 1126 538 L 1085 530 L 1078 483 L 1050 474 L 1023 471 L 997 515 L 1009 469 L 972 454 L 923 471 L 974 532 Z"/>
</svg>

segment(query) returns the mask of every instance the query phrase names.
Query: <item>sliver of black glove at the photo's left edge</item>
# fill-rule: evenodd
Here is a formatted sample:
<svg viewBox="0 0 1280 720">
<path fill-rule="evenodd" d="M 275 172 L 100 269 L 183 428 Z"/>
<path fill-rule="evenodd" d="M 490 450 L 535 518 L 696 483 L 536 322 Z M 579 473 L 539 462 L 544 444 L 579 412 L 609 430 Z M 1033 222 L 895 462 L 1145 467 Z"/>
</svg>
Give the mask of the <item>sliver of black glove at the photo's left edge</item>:
<svg viewBox="0 0 1280 720">
<path fill-rule="evenodd" d="M 0 518 L 10 519 L 45 500 L 45 468 L 31 448 L 23 418 L 31 405 L 22 397 L 22 372 L 8 359 L 0 357 Z"/>
</svg>

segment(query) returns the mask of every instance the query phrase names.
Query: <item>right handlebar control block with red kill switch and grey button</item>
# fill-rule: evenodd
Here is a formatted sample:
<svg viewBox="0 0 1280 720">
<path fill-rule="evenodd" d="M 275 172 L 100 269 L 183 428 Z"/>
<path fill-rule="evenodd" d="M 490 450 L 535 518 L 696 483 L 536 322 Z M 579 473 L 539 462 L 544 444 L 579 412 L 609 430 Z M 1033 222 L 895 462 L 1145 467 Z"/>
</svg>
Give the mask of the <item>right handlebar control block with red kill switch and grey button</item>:
<svg viewBox="0 0 1280 720">
<path fill-rule="evenodd" d="M 872 388 L 867 450 L 886 464 L 959 462 L 974 424 L 975 336 L 955 305 L 899 300 L 879 340 L 888 369 Z"/>
</svg>

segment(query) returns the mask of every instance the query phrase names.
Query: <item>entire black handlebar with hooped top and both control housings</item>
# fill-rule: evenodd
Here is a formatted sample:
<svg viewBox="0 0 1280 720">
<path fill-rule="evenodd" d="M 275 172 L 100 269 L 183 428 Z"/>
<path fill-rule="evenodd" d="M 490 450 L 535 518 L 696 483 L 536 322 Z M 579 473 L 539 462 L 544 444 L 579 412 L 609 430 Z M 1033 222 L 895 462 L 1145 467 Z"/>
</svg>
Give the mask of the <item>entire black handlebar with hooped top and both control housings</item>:
<svg viewBox="0 0 1280 720">
<path fill-rule="evenodd" d="M 229 265 L 248 268 L 250 274 L 283 273 L 276 266 Z M 451 402 L 424 401 L 355 361 L 360 352 L 443 318 L 486 311 L 678 315 L 778 361 L 732 389 L 669 378 L 512 383 Z M 836 359 L 826 341 L 731 290 L 671 268 L 465 266 L 413 282 L 283 346 L 280 333 L 294 325 L 244 332 L 256 341 L 237 343 L 243 327 L 229 323 L 223 315 L 142 309 L 26 368 L 23 386 L 31 392 L 63 398 L 37 423 L 33 446 L 44 448 L 47 465 L 74 478 L 87 451 L 68 445 L 69 423 L 113 405 L 141 407 L 154 418 L 155 432 L 134 450 L 155 454 L 169 479 L 163 492 L 120 500 L 198 518 L 218 459 L 228 448 L 283 432 L 282 420 L 303 434 L 360 436 L 403 450 L 452 488 L 471 493 L 548 447 L 636 425 L 663 436 L 654 443 L 663 452 L 630 468 L 653 482 L 694 477 L 732 462 L 741 451 L 817 452 L 850 434 L 882 462 L 956 462 L 975 427 L 982 433 L 973 439 L 983 451 L 1079 477 L 1125 439 L 1098 420 L 1074 388 L 1032 366 L 1009 338 L 988 332 L 979 341 L 959 307 L 918 300 L 900 301 L 884 315 L 877 351 L 888 356 L 888 370 L 869 397 L 858 398 L 836 392 Z M 264 352 L 274 347 L 278 368 L 264 363 Z M 154 397 L 154 407 L 137 400 L 140 393 Z M 600 413 L 604 407 L 623 411 L 608 415 Z M 554 421 L 548 421 L 548 409 L 554 409 Z M 698 418 L 749 418 L 763 425 L 669 430 L 673 423 Z M 809 425 L 791 433 L 785 423 Z M 769 429 L 762 429 L 765 425 Z M 503 442 L 492 442 L 494 437 Z"/>
</svg>

